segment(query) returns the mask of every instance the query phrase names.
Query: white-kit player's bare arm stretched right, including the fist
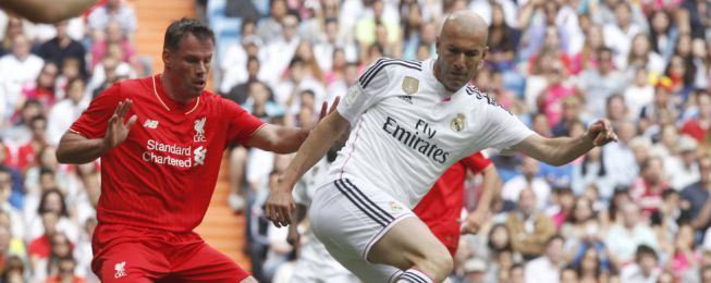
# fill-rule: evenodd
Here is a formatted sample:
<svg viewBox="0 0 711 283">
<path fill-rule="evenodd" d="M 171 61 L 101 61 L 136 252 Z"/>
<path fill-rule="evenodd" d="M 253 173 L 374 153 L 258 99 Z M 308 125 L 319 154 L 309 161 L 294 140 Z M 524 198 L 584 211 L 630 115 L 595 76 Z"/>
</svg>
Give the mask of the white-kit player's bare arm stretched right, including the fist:
<svg viewBox="0 0 711 283">
<path fill-rule="evenodd" d="M 547 138 L 534 134 L 515 145 L 513 149 L 559 167 L 585 155 L 592 147 L 603 146 L 613 140 L 617 140 L 617 135 L 612 131 L 610 122 L 599 120 L 583 136 Z"/>
</svg>

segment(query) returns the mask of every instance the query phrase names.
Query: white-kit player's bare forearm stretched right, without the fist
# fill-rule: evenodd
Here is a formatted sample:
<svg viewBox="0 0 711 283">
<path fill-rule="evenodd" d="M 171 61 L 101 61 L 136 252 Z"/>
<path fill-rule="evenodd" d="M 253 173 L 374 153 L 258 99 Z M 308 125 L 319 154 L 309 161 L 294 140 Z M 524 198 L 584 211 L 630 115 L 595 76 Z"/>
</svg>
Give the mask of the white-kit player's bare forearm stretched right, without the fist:
<svg viewBox="0 0 711 283">
<path fill-rule="evenodd" d="M 592 138 L 587 135 L 547 138 L 532 134 L 515 145 L 513 149 L 551 165 L 560 167 L 585 155 L 593 147 Z"/>
</svg>

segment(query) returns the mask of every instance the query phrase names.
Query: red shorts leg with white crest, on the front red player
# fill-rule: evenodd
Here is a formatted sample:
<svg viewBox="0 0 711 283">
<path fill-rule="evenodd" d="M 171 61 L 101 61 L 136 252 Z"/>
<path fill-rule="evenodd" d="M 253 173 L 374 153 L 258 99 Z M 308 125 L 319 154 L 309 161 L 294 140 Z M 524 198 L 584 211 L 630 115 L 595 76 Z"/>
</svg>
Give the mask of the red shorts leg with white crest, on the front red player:
<svg viewBox="0 0 711 283">
<path fill-rule="evenodd" d="M 94 272 L 101 282 L 152 282 L 170 270 L 159 246 L 148 243 L 121 243 L 94 259 Z"/>
</svg>

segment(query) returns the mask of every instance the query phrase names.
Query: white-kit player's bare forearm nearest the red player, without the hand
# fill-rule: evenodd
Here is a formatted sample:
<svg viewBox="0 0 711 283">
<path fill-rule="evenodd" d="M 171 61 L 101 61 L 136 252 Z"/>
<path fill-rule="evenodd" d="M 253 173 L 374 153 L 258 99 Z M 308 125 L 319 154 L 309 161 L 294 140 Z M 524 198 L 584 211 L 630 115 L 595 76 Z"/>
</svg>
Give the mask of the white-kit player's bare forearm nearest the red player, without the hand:
<svg viewBox="0 0 711 283">
<path fill-rule="evenodd" d="M 311 131 L 311 134 L 298 149 L 294 160 L 284 171 L 281 181 L 286 184 L 285 187 L 292 189 L 304 173 L 314 167 L 326 155 L 326 151 L 342 137 L 343 132 L 347 131 L 350 125 L 348 121 L 339 111 L 333 111 L 326 116 Z"/>
</svg>

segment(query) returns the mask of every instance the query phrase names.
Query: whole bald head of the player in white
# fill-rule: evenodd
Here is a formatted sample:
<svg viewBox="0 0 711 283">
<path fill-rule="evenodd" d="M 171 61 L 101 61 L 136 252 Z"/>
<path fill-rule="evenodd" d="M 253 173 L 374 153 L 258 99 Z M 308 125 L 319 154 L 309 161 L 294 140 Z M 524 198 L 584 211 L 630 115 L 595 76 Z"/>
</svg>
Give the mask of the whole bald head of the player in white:
<svg viewBox="0 0 711 283">
<path fill-rule="evenodd" d="M 464 87 L 482 66 L 487 57 L 489 28 L 470 11 L 450 14 L 437 37 L 434 76 L 449 90 Z"/>
</svg>

